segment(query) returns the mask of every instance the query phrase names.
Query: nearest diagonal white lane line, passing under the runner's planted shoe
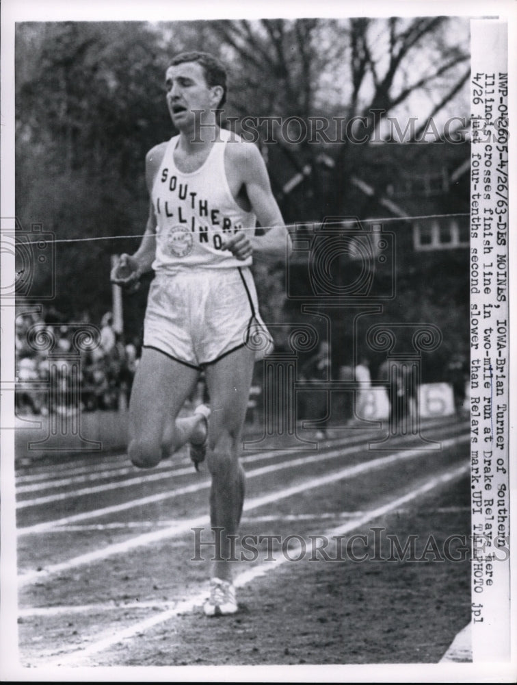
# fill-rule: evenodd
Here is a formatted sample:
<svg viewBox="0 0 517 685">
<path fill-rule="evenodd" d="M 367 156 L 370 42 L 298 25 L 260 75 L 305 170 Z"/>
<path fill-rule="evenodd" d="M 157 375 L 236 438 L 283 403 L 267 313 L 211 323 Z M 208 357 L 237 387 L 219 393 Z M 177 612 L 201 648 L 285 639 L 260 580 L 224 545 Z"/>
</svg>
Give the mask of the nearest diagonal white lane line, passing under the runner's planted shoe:
<svg viewBox="0 0 517 685">
<path fill-rule="evenodd" d="M 326 532 L 325 536 L 326 538 L 331 538 L 334 535 L 344 535 L 348 532 L 352 532 L 352 530 L 356 530 L 356 528 L 360 527 L 361 525 L 364 525 L 364 523 L 370 523 L 374 519 L 378 519 L 380 516 L 385 516 L 394 509 L 399 508 L 401 505 L 406 504 L 414 499 L 417 499 L 422 495 L 425 495 L 426 493 L 429 493 L 431 490 L 434 490 L 434 488 L 445 485 L 454 479 L 462 477 L 462 475 L 468 473 L 469 469 L 470 462 L 464 463 L 459 468 L 457 467 L 455 469 L 449 469 L 441 475 L 432 477 L 422 486 L 412 490 L 410 493 L 403 495 L 402 497 L 397 497 L 397 499 L 393 499 L 392 501 L 384 504 L 383 506 L 377 507 L 367 512 L 357 521 L 351 521 L 349 523 L 345 523 L 345 525 L 333 528 L 332 530 Z M 311 546 L 313 547 L 313 549 L 311 549 L 311 553 L 315 553 L 317 551 L 317 547 L 315 546 L 314 541 L 311 542 Z M 294 547 L 292 556 L 295 556 Z M 280 556 L 276 560 L 275 564 L 268 564 L 267 562 L 265 562 L 263 564 L 259 564 L 258 566 L 254 566 L 252 569 L 249 569 L 248 571 L 243 571 L 235 578 L 235 586 L 241 588 L 258 577 L 266 575 L 271 571 L 276 571 L 280 568 L 280 565 L 282 565 L 286 561 L 286 557 Z M 109 649 L 109 647 L 113 647 L 114 645 L 117 645 L 123 640 L 133 638 L 137 634 L 146 632 L 151 628 L 159 625 L 160 623 L 165 623 L 166 621 L 173 619 L 174 617 L 178 616 L 178 614 L 184 614 L 193 611 L 195 608 L 202 604 L 206 597 L 206 592 L 199 593 L 191 599 L 184 599 L 183 601 L 178 602 L 177 606 L 172 609 L 163 611 L 160 614 L 155 614 L 142 621 L 138 621 L 137 623 L 128 626 L 124 630 L 120 630 L 119 632 L 114 632 L 113 630 L 106 631 L 100 638 L 98 638 L 94 643 L 90 643 L 90 645 L 88 645 L 87 647 L 83 647 L 83 649 L 79 649 L 71 653 L 69 652 L 63 654 L 62 656 L 57 656 L 45 665 L 51 667 L 78 666 L 80 665 L 78 660 L 82 661 L 85 658 L 93 656 L 94 654 L 97 654 L 101 651 L 105 651 L 105 649 Z"/>
</svg>

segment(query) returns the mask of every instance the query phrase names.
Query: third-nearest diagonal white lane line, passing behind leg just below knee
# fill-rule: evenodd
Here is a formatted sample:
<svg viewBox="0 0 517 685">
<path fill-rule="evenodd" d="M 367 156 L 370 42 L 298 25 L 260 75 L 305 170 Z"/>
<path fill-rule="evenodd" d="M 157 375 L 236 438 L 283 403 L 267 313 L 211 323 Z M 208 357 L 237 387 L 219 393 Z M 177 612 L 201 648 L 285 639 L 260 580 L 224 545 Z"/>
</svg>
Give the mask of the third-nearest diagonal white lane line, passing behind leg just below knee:
<svg viewBox="0 0 517 685">
<path fill-rule="evenodd" d="M 447 445 L 453 444 L 451 443 L 451 440 L 456 440 L 457 438 L 449 438 L 449 440 L 442 440 L 442 448 L 447 447 Z M 464 436 L 462 438 L 463 440 L 466 439 Z M 315 454 L 311 454 L 310 456 L 306 457 L 301 457 L 298 458 L 297 460 L 287 460 L 284 462 L 279 462 L 277 464 L 271 464 L 269 466 L 261 466 L 259 469 L 254 469 L 254 471 L 248 471 L 246 473 L 247 478 L 252 478 L 256 477 L 259 475 L 265 475 L 266 473 L 272 473 L 274 471 L 279 471 L 280 469 L 290 469 L 293 466 L 302 466 L 304 464 L 310 464 L 311 462 L 315 461 L 323 461 L 327 459 L 333 459 L 335 457 L 339 456 L 346 456 L 347 454 L 350 454 L 352 452 L 355 452 L 357 449 L 356 446 L 348 447 L 347 449 L 334 449 L 331 450 L 330 452 L 317 452 Z M 406 451 L 406 450 L 404 450 Z M 416 449 L 416 450 L 407 450 L 408 453 L 412 452 L 412 456 L 414 456 L 413 453 L 422 453 L 423 450 L 421 449 Z M 275 451 L 274 455 L 278 457 L 278 452 Z M 387 457 L 389 458 L 389 457 Z M 381 461 L 383 458 L 380 458 Z M 373 460 L 375 461 L 375 460 Z M 369 463 L 369 462 L 367 462 Z M 114 514 L 118 513 L 121 511 L 125 511 L 128 509 L 133 509 L 139 506 L 146 506 L 148 504 L 155 504 L 157 502 L 165 501 L 167 499 L 173 499 L 174 497 L 179 497 L 180 495 L 189 495 L 190 493 L 195 493 L 198 492 L 199 490 L 203 490 L 205 488 L 210 487 L 210 481 L 209 480 L 204 480 L 202 482 L 198 482 L 195 484 L 191 484 L 188 486 L 183 486 L 182 488 L 176 488 L 175 490 L 168 490 L 168 492 L 165 493 L 155 493 L 155 495 L 148 495 L 147 497 L 139 497 L 138 499 L 131 499 L 130 501 L 127 502 L 122 502 L 120 504 L 114 504 L 111 506 L 99 508 L 99 509 L 94 509 L 86 512 L 81 512 L 80 514 L 71 514 L 70 516 L 63 516 L 61 519 L 54 519 L 53 521 L 42 521 L 42 523 L 36 523 L 31 526 L 26 526 L 23 528 L 18 528 L 18 535 L 27 535 L 27 534 L 34 534 L 34 533 L 40 533 L 48 530 L 52 530 L 54 527 L 57 527 L 59 525 L 66 525 L 68 523 L 77 523 L 77 521 L 85 521 L 88 519 L 95 519 L 98 516 L 106 516 L 109 514 Z"/>
</svg>

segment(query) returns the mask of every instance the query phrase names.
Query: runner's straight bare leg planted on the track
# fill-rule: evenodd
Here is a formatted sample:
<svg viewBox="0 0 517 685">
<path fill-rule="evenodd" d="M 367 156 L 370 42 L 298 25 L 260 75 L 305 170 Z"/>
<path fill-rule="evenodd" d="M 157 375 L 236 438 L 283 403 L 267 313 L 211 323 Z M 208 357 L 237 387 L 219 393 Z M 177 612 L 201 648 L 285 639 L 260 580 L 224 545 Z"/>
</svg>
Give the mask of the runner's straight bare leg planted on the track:
<svg viewBox="0 0 517 685">
<path fill-rule="evenodd" d="M 211 577 L 231 580 L 230 541 L 237 534 L 244 501 L 245 477 L 239 464 L 242 432 L 253 375 L 254 351 L 241 347 L 207 366 L 210 395 L 207 464 L 212 475 L 210 519 L 221 527 L 221 559 L 211 565 Z"/>
</svg>

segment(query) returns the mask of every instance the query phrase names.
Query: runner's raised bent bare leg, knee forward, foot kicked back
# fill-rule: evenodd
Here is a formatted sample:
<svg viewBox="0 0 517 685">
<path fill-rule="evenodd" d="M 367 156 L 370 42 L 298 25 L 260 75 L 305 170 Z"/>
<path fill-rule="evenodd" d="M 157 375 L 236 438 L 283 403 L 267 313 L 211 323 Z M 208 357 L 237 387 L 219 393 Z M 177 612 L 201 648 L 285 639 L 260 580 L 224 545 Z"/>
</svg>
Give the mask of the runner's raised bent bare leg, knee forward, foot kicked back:
<svg viewBox="0 0 517 685">
<path fill-rule="evenodd" d="M 177 418 L 198 375 L 155 349 L 142 349 L 129 403 L 129 458 L 135 466 L 149 469 L 187 440 L 202 441 L 200 416 Z"/>
</svg>

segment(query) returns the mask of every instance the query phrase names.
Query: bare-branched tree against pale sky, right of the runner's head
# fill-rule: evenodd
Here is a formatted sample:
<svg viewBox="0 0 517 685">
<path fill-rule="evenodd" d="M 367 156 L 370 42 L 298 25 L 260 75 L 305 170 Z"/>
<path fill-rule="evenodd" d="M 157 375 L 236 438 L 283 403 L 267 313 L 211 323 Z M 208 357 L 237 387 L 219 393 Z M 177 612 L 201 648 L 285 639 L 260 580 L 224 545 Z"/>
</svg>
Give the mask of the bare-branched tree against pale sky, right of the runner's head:
<svg viewBox="0 0 517 685">
<path fill-rule="evenodd" d="M 284 129 L 277 130 L 274 180 L 282 157 L 299 173 L 307 166 L 311 170 L 308 192 L 297 198 L 295 208 L 288 207 L 289 221 L 350 213 L 343 189 L 360 168 L 363 147 L 347 139 L 353 131 L 346 125 L 354 117 L 361 119 L 358 135 L 369 140 L 386 116 L 406 110 L 407 118 L 419 96 L 414 131 L 419 136 L 429 119 L 458 96 L 470 74 L 466 23 L 455 18 L 216 21 L 206 30 L 233 65 L 230 114 L 296 117 L 312 133 L 311 117 L 343 120 L 341 129 L 332 122 L 326 134 L 309 133 L 298 145 L 286 140 Z M 261 130 L 263 147 L 267 133 Z M 324 145 L 326 139 L 330 142 Z M 331 173 L 319 162 L 322 148 L 334 160 Z M 281 183 L 280 175 L 276 190 Z"/>
</svg>

